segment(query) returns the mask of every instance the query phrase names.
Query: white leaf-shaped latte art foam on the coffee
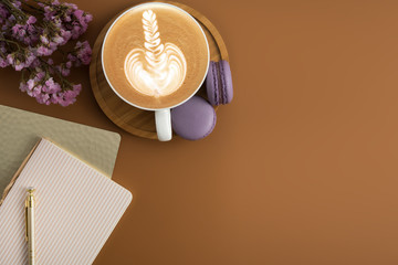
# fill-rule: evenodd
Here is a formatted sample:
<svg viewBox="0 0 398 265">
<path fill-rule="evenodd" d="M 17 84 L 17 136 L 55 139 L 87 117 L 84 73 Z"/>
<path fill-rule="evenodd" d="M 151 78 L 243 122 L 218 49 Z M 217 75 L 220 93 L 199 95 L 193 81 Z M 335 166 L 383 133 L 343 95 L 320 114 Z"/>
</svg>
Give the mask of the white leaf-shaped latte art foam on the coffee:
<svg viewBox="0 0 398 265">
<path fill-rule="evenodd" d="M 156 13 L 143 12 L 144 49 L 133 49 L 124 64 L 130 85 L 148 96 L 166 96 L 176 92 L 187 74 L 187 61 L 174 43 L 161 43 Z"/>
</svg>

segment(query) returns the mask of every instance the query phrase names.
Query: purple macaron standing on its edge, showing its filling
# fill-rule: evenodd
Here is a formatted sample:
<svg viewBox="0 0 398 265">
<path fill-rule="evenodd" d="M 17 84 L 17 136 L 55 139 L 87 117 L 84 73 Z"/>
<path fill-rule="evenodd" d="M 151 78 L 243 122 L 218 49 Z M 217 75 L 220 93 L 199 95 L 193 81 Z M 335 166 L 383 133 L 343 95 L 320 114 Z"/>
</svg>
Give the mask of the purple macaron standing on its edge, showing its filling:
<svg viewBox="0 0 398 265">
<path fill-rule="evenodd" d="M 209 102 L 213 106 L 228 104 L 233 97 L 231 68 L 227 61 L 210 62 L 206 78 Z"/>
</svg>

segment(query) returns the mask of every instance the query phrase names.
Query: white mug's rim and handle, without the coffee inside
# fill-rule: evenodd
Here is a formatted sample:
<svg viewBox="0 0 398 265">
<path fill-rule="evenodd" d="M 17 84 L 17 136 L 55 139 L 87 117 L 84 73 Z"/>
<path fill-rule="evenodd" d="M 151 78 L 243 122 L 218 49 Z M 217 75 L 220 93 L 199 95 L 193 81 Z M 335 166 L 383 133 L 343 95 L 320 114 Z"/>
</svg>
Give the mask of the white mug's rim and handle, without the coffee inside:
<svg viewBox="0 0 398 265">
<path fill-rule="evenodd" d="M 168 7 L 172 7 L 175 9 L 178 9 L 179 11 L 182 11 L 184 13 L 188 14 L 189 18 L 192 19 L 192 21 L 195 21 L 195 23 L 199 26 L 200 29 L 200 32 L 203 34 L 203 39 L 206 41 L 206 44 L 207 44 L 207 50 L 208 50 L 208 63 L 207 63 L 207 70 L 205 72 L 205 75 L 203 75 L 203 78 L 201 81 L 200 84 L 198 84 L 198 87 L 196 91 L 193 91 L 192 94 L 190 94 L 189 96 L 187 96 L 184 100 L 175 104 L 174 106 L 170 106 L 168 108 L 146 108 L 146 107 L 143 107 L 143 106 L 139 106 L 139 105 L 136 105 L 136 104 L 133 104 L 130 103 L 129 100 L 127 100 L 126 98 L 124 98 L 114 87 L 113 85 L 111 84 L 107 75 L 106 75 L 106 71 L 105 71 L 105 67 L 104 67 L 104 44 L 105 44 L 105 41 L 106 41 L 106 38 L 108 36 L 108 33 L 109 31 L 112 31 L 114 24 L 124 15 L 126 14 L 127 12 L 136 9 L 136 8 L 142 8 L 143 6 L 151 6 L 151 4 L 166 4 Z M 195 43 L 192 43 L 192 45 L 195 45 Z M 202 28 L 200 26 L 200 24 L 197 22 L 197 20 L 190 15 L 187 11 L 174 6 L 174 4 L 169 4 L 169 3 L 163 3 L 163 2 L 146 2 L 146 3 L 142 3 L 142 4 L 138 4 L 138 6 L 135 6 L 130 9 L 127 9 L 126 11 L 124 11 L 122 14 L 119 14 L 115 21 L 112 23 L 112 25 L 109 26 L 109 29 L 107 30 L 106 34 L 105 34 L 105 38 L 104 38 L 104 41 L 103 41 L 103 45 L 102 45 L 102 50 L 101 50 L 101 61 L 102 61 L 102 68 L 103 68 L 103 72 L 104 72 L 104 75 L 105 75 L 105 78 L 106 78 L 106 82 L 108 83 L 108 85 L 111 86 L 111 88 L 114 91 L 114 93 L 121 98 L 123 99 L 124 102 L 126 102 L 127 104 L 132 105 L 133 107 L 136 107 L 136 108 L 140 108 L 140 109 L 144 109 L 144 110 L 153 110 L 155 112 L 155 123 L 156 123 L 156 131 L 157 131 L 157 137 L 160 141 L 168 141 L 168 140 L 171 140 L 171 136 L 172 136 L 172 130 L 171 130 L 171 115 L 170 115 L 170 109 L 174 108 L 174 107 L 177 107 L 181 104 L 184 104 L 185 102 L 187 102 L 188 99 L 190 99 L 197 92 L 198 89 L 200 88 L 200 86 L 203 84 L 205 80 L 206 80 L 206 75 L 207 75 L 207 72 L 209 70 L 209 63 L 210 63 L 210 50 L 209 50 L 209 43 L 207 41 L 207 38 L 206 38 L 206 34 L 202 30 Z"/>
</svg>

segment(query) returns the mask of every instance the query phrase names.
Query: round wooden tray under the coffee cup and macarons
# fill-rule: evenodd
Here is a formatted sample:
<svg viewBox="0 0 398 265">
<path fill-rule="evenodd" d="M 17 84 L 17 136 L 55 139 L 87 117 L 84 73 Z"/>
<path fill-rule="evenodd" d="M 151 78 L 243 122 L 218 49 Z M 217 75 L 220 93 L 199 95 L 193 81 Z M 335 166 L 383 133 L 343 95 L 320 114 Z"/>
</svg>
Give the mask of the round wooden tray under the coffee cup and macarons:
<svg viewBox="0 0 398 265">
<path fill-rule="evenodd" d="M 167 1 L 168 2 L 168 1 Z M 195 9 L 187 7 L 178 2 L 168 2 L 177 6 L 188 13 L 190 13 L 202 26 L 210 47 L 210 60 L 219 61 L 227 60 L 228 52 L 226 44 L 216 29 L 216 26 L 201 13 Z M 135 108 L 124 100 L 122 100 L 107 84 L 104 73 L 102 71 L 101 63 L 101 47 L 106 34 L 107 29 L 112 22 L 118 17 L 118 14 L 111 20 L 97 36 L 93 47 L 93 60 L 90 65 L 90 81 L 92 89 L 101 109 L 105 115 L 118 127 L 128 131 L 132 135 L 144 137 L 147 139 L 157 139 L 155 128 L 155 114 L 154 112 L 147 112 L 139 108 Z M 199 89 L 198 94 L 202 97 L 206 96 L 205 85 Z"/>
</svg>

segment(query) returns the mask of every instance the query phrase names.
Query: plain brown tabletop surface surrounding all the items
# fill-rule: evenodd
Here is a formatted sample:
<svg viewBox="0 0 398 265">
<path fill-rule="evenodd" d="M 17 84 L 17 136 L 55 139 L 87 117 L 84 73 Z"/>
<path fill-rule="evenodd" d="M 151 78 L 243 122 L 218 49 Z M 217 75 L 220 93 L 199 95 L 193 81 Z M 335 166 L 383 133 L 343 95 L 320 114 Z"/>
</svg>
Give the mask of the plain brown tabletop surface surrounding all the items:
<svg viewBox="0 0 398 265">
<path fill-rule="evenodd" d="M 78 1 L 101 28 L 130 0 Z M 129 136 L 98 108 L 0 104 L 118 131 L 134 201 L 100 264 L 397 264 L 398 3 L 184 1 L 220 30 L 235 98 L 201 141 Z"/>
</svg>

